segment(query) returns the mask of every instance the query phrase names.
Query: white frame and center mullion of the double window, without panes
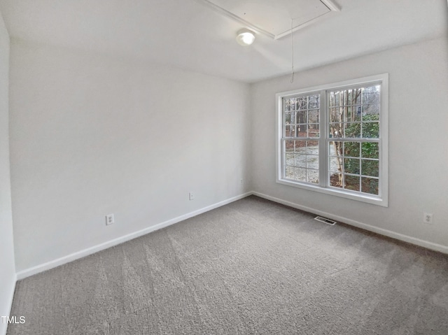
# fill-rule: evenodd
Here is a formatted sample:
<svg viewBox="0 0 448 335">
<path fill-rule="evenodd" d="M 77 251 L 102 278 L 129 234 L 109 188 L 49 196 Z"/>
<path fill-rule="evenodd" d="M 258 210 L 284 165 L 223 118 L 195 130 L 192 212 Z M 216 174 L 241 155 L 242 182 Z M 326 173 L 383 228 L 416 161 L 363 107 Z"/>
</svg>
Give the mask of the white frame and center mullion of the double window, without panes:
<svg viewBox="0 0 448 335">
<path fill-rule="evenodd" d="M 330 90 L 346 90 L 350 87 L 367 86 L 375 83 L 381 84 L 380 114 L 379 114 L 379 194 L 366 194 L 339 189 L 329 186 L 328 180 L 328 143 L 331 141 L 328 127 L 328 101 L 327 93 Z M 297 94 L 320 94 L 319 116 L 319 183 L 311 184 L 283 178 L 283 98 L 297 96 Z M 353 80 L 344 80 L 339 83 L 306 87 L 299 90 L 280 92 L 276 94 L 276 183 L 299 187 L 330 194 L 337 197 L 363 201 L 368 204 L 388 206 L 388 73 L 369 76 Z"/>
</svg>

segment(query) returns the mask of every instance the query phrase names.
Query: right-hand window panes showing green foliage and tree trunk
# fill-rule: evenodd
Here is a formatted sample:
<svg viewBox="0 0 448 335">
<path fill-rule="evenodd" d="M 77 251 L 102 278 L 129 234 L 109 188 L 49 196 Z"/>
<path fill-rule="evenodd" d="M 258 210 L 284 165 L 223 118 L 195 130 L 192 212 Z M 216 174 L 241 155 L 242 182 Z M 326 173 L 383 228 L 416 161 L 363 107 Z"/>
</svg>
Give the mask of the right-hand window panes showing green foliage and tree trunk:
<svg viewBox="0 0 448 335">
<path fill-rule="evenodd" d="M 379 99 L 380 85 L 328 92 L 330 186 L 378 194 Z"/>
</svg>

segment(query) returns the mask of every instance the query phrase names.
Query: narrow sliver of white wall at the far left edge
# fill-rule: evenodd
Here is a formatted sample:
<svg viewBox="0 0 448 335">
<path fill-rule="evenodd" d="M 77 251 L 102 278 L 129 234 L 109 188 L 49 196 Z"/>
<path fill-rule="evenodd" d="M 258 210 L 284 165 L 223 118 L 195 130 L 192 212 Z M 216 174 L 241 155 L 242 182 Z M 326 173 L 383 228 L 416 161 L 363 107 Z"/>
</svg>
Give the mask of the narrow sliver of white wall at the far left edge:
<svg viewBox="0 0 448 335">
<path fill-rule="evenodd" d="M 15 288 L 13 218 L 9 171 L 9 36 L 0 14 L 0 316 L 9 315 Z M 0 320 L 0 334 L 6 324 Z"/>
</svg>

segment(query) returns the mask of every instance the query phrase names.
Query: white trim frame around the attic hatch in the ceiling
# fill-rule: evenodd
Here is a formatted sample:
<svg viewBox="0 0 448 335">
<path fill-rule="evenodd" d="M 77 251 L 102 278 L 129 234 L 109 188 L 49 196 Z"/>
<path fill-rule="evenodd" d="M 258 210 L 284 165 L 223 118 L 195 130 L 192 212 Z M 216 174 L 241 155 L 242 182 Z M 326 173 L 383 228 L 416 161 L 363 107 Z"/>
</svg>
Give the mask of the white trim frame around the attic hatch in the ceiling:
<svg viewBox="0 0 448 335">
<path fill-rule="evenodd" d="M 226 17 L 229 17 L 232 20 L 235 20 L 241 24 L 244 24 L 245 27 L 247 27 L 248 29 L 251 29 L 255 32 L 257 32 L 258 34 L 263 34 L 267 37 L 270 37 L 274 40 L 277 40 L 279 38 L 282 38 L 284 36 L 288 36 L 289 34 L 293 34 L 294 31 L 300 30 L 304 27 L 309 26 L 309 24 L 313 24 L 314 22 L 317 22 L 318 20 L 321 20 L 322 17 L 324 17 L 325 15 L 331 15 L 331 13 L 335 13 L 335 12 L 340 12 L 341 8 L 339 7 L 339 5 L 337 5 L 337 3 L 335 3 L 334 0 L 318 0 L 320 1 L 325 7 L 328 8 L 328 10 L 330 10 L 329 12 L 323 13 L 321 15 L 318 15 L 314 18 L 312 18 L 311 20 L 308 20 L 306 22 L 303 22 L 302 24 L 297 25 L 296 27 L 294 27 L 293 29 L 289 29 L 287 31 L 284 31 L 281 34 L 278 35 L 274 35 L 272 33 L 270 33 L 269 31 L 262 29 L 261 27 L 258 27 L 256 24 L 253 24 L 251 22 L 248 22 L 246 20 L 244 20 L 243 18 L 239 17 L 238 15 L 235 15 L 234 13 L 231 13 L 230 11 L 222 8 L 221 6 L 216 5 L 215 3 L 213 3 L 211 0 L 196 0 L 199 1 L 200 3 L 203 3 L 205 6 L 208 6 L 209 8 L 215 10 L 217 13 L 220 13 L 221 15 L 224 15 Z M 288 20 L 290 20 L 291 17 L 288 17 Z"/>
</svg>

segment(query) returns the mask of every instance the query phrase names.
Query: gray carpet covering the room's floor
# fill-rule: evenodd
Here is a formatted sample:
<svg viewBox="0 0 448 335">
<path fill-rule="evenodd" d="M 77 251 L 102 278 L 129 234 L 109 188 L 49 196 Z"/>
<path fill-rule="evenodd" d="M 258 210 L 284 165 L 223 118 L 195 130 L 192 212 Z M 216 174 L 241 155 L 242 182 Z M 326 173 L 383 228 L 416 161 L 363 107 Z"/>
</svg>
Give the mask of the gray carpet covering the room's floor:
<svg viewBox="0 0 448 335">
<path fill-rule="evenodd" d="M 448 334 L 448 256 L 248 197 L 18 282 L 14 334 Z"/>
</svg>

